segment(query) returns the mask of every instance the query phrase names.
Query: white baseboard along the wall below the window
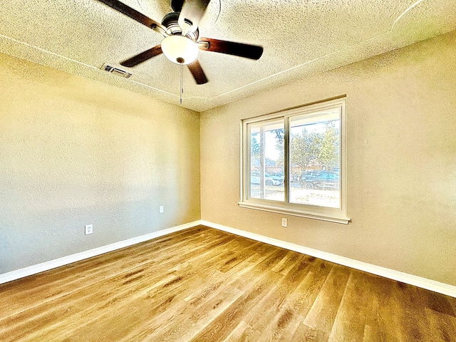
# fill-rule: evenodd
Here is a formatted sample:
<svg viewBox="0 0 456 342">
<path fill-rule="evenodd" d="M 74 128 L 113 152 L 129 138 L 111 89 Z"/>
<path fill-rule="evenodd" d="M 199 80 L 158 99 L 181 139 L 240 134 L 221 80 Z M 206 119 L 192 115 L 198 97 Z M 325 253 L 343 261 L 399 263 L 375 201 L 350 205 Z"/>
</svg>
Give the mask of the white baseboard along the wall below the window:
<svg viewBox="0 0 456 342">
<path fill-rule="evenodd" d="M 199 224 L 203 224 L 207 227 L 212 227 L 214 229 L 223 230 L 224 232 L 229 232 L 232 234 L 237 234 L 242 237 L 247 237 L 249 239 L 257 240 L 259 242 L 264 242 L 266 244 L 272 244 L 276 247 L 282 247 L 285 249 L 289 249 L 291 251 L 299 252 L 302 254 L 310 255 L 311 257 L 316 257 L 319 259 L 323 259 L 326 261 L 331 261 L 336 264 L 341 264 L 343 266 L 348 266 L 353 269 L 359 269 L 361 271 L 366 271 L 371 274 L 376 274 L 378 276 L 384 276 L 385 278 L 397 280 L 403 282 L 405 284 L 410 284 L 414 286 L 418 286 L 423 289 L 427 289 L 430 291 L 437 292 L 439 294 L 445 294 L 447 296 L 452 296 L 456 298 L 456 286 L 452 286 L 449 284 L 440 283 L 439 281 L 434 281 L 430 279 L 426 279 L 420 276 L 414 276 L 413 274 L 407 274 L 400 271 L 395 271 L 393 269 L 387 269 L 382 266 L 376 266 L 373 264 L 368 264 L 363 261 L 357 261 L 354 259 L 349 259 L 346 257 L 340 257 L 336 254 L 331 254 L 328 252 L 321 252 L 317 249 L 311 249 L 308 247 L 300 246 L 299 244 L 291 244 L 290 242 L 284 242 L 279 239 L 273 239 L 271 237 L 264 237 L 260 234 L 254 234 L 251 232 L 246 232 L 241 229 L 236 229 L 232 227 L 223 226 L 222 224 L 207 222 L 201 220 Z"/>
</svg>

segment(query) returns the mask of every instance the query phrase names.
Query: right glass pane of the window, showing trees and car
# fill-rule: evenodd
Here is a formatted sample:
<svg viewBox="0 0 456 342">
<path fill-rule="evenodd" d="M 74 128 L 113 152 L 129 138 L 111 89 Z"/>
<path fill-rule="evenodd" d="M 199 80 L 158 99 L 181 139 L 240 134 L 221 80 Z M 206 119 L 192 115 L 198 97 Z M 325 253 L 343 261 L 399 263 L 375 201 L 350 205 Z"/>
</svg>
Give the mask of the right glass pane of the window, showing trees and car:
<svg viewBox="0 0 456 342">
<path fill-rule="evenodd" d="M 289 202 L 341 207 L 341 108 L 290 119 Z"/>
</svg>

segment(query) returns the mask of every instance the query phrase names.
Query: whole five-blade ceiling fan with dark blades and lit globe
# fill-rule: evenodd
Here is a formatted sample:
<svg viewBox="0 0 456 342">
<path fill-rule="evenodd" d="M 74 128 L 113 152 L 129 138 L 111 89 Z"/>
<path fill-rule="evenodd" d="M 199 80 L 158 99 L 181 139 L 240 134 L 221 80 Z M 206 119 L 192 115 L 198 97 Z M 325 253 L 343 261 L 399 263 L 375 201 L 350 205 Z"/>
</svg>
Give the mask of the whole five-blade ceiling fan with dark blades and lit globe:
<svg viewBox="0 0 456 342">
<path fill-rule="evenodd" d="M 196 83 L 204 84 L 208 80 L 197 60 L 199 50 L 227 53 L 250 59 L 259 59 L 263 53 L 263 48 L 257 45 L 199 37 L 199 20 L 210 0 L 172 0 L 172 12 L 163 17 L 161 24 L 118 0 L 99 1 L 165 37 L 160 45 L 121 62 L 122 66 L 131 68 L 163 53 L 173 63 L 186 65 Z"/>
</svg>

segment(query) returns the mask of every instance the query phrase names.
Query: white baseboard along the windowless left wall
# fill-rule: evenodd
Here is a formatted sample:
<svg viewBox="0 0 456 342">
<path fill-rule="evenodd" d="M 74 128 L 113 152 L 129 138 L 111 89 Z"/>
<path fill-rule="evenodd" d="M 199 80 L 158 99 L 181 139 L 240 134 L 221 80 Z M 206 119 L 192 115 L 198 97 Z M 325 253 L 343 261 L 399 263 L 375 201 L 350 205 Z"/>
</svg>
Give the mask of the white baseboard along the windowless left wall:
<svg viewBox="0 0 456 342">
<path fill-rule="evenodd" d="M 195 227 L 198 224 L 200 224 L 199 221 L 181 224 L 180 226 L 162 229 L 157 232 L 142 235 L 140 237 L 133 237 L 132 239 L 115 242 L 113 244 L 108 244 L 106 246 L 89 249 L 88 251 L 85 251 L 85 252 L 71 254 L 71 255 L 68 255 L 67 257 L 62 257 L 62 258 L 43 262 L 41 264 L 28 266 L 28 267 L 25 267 L 24 269 L 17 269 L 15 271 L 0 274 L 0 284 L 4 284 L 8 281 L 13 281 L 16 279 L 24 278 L 24 276 L 31 276 L 32 274 L 37 274 L 37 273 L 40 273 L 43 271 L 48 271 L 49 269 L 55 269 L 57 267 L 68 265 L 68 264 L 71 264 L 76 261 L 81 261 L 83 259 L 96 257 L 97 255 L 100 255 L 100 254 L 113 252 L 116 249 L 121 249 L 124 247 L 132 246 L 133 244 L 139 244 L 140 242 L 145 242 L 150 239 L 155 239 L 156 237 L 162 237 L 163 235 L 167 235 L 167 234 L 171 234 L 174 232 L 178 232 L 183 229 Z"/>
</svg>

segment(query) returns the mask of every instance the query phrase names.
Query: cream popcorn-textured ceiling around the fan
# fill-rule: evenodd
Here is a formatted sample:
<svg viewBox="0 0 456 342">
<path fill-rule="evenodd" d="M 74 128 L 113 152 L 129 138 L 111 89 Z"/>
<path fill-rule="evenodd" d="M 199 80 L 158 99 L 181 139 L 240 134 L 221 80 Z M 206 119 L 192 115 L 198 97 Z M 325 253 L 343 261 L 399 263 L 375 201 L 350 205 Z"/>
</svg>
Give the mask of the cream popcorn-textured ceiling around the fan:
<svg viewBox="0 0 456 342">
<path fill-rule="evenodd" d="M 170 0 L 123 0 L 155 21 Z M 415 6 L 413 6 L 415 5 Z M 456 29 L 455 0 L 212 0 L 199 36 L 264 47 L 259 61 L 200 51 L 209 83 L 184 68 L 182 105 L 202 111 Z M 180 66 L 119 62 L 162 36 L 98 0 L 1 0 L 0 52 L 179 104 Z M 129 79 L 101 71 L 109 64 Z"/>
</svg>

